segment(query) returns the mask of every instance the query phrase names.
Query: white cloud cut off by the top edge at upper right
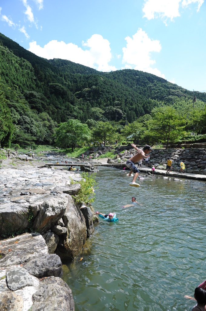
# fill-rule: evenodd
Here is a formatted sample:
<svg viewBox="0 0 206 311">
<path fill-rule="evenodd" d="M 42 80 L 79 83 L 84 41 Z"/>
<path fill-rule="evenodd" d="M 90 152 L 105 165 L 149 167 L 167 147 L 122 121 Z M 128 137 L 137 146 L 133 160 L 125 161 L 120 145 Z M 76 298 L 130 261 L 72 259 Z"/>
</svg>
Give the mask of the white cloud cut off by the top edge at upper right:
<svg viewBox="0 0 206 311">
<path fill-rule="evenodd" d="M 168 18 L 173 21 L 175 17 L 180 16 L 180 2 L 183 8 L 197 2 L 198 12 L 204 0 L 145 0 L 142 9 L 144 12 L 143 17 L 146 17 L 148 20 L 160 17 L 166 24 Z"/>
</svg>

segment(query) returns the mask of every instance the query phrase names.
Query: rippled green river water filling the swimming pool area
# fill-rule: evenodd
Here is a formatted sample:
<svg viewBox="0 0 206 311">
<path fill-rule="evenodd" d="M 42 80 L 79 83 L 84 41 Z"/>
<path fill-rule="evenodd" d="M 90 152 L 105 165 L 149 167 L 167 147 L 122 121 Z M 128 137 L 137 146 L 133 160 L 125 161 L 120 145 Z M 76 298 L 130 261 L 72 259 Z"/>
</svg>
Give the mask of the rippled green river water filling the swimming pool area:
<svg viewBox="0 0 206 311">
<path fill-rule="evenodd" d="M 82 252 L 65 264 L 63 279 L 76 311 L 191 310 L 206 279 L 205 182 L 146 177 L 129 186 L 123 170 L 101 168 L 95 211 L 100 219 Z M 132 204 L 132 196 L 141 204 Z M 82 258 L 82 259 L 81 259 Z"/>
</svg>

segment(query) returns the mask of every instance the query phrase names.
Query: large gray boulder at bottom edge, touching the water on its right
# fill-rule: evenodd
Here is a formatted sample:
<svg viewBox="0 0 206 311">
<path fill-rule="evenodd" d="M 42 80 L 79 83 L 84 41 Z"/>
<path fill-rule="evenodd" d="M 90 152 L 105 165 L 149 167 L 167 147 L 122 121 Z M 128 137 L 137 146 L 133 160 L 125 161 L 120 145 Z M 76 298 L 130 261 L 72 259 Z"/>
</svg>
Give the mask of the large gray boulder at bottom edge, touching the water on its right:
<svg viewBox="0 0 206 311">
<path fill-rule="evenodd" d="M 69 286 L 58 277 L 41 281 L 39 290 L 33 295 L 32 311 L 74 311 L 74 299 Z"/>
</svg>

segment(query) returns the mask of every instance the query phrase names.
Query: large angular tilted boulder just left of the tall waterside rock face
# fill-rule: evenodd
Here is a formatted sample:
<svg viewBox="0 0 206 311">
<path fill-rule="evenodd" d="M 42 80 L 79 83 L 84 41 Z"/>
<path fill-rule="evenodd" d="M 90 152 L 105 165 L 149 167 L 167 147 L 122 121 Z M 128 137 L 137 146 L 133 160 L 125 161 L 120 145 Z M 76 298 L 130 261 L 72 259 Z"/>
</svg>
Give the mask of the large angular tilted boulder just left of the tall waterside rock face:
<svg viewBox="0 0 206 311">
<path fill-rule="evenodd" d="M 40 211 L 34 220 L 34 230 L 46 232 L 62 218 L 66 210 L 68 200 L 63 197 L 49 197 L 40 207 Z"/>
</svg>

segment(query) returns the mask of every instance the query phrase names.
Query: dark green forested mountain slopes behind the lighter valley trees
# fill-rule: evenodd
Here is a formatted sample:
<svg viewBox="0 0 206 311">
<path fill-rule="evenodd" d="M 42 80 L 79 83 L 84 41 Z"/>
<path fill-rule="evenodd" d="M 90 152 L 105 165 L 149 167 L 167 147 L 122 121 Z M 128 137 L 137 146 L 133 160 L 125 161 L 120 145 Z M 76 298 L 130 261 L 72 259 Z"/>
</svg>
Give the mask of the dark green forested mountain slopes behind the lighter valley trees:
<svg viewBox="0 0 206 311">
<path fill-rule="evenodd" d="M 125 124 L 126 117 L 133 122 L 154 107 L 177 107 L 192 99 L 191 91 L 155 75 L 129 69 L 98 72 L 67 60 L 47 60 L 2 34 L 0 69 L 0 93 L 14 125 L 12 142 L 18 144 L 52 144 L 57 124 L 68 119 Z M 204 105 L 206 93 L 195 95 Z M 8 135 L 2 138 L 3 145 L 8 142 Z"/>
</svg>

